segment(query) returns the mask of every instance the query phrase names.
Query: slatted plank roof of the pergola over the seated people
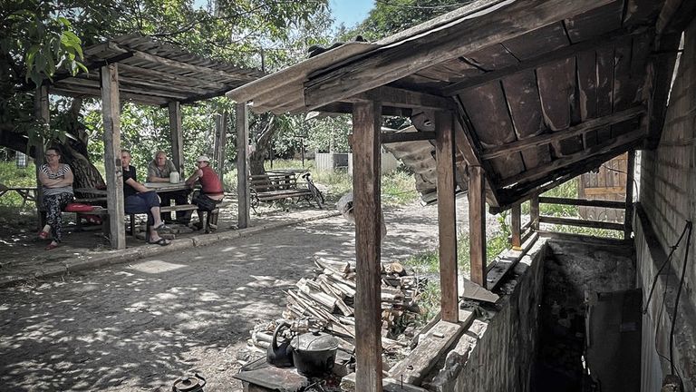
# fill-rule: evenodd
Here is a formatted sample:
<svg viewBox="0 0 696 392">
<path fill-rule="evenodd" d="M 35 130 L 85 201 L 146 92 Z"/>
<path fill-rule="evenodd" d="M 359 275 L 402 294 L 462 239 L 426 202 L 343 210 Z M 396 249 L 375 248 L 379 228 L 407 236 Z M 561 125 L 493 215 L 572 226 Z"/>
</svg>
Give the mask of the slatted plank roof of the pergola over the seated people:
<svg viewBox="0 0 696 392">
<path fill-rule="evenodd" d="M 152 105 L 194 103 L 224 95 L 263 73 L 190 54 L 140 34 L 123 35 L 84 49 L 89 73 L 57 74 L 50 93 L 101 97 L 99 69 L 119 65 L 122 100 Z"/>
</svg>

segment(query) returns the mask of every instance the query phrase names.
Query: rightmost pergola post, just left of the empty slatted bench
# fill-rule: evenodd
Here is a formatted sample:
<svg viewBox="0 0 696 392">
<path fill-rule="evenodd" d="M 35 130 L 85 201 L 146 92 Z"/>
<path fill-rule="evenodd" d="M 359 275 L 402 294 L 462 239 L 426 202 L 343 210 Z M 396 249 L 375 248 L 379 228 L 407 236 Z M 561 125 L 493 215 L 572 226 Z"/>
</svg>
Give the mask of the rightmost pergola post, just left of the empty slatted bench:
<svg viewBox="0 0 696 392">
<path fill-rule="evenodd" d="M 235 106 L 237 127 L 237 228 L 249 226 L 249 115 L 247 103 Z"/>
</svg>

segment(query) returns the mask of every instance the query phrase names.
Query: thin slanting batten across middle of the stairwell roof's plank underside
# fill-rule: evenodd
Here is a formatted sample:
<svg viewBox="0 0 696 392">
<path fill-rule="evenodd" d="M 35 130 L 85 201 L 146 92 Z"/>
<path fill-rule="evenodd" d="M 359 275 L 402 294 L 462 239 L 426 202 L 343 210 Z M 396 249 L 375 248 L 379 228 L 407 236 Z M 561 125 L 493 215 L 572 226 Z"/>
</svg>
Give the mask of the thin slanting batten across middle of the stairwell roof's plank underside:
<svg viewBox="0 0 696 392">
<path fill-rule="evenodd" d="M 565 130 L 545 133 L 528 139 L 517 140 L 515 142 L 509 142 L 507 144 L 485 149 L 481 153 L 481 158 L 484 160 L 490 160 L 493 158 L 498 158 L 499 156 L 507 155 L 509 153 L 521 152 L 523 150 L 527 150 L 528 148 L 539 147 L 551 142 L 559 142 L 569 137 L 578 136 L 586 132 L 594 131 L 607 125 L 612 125 L 618 122 L 630 120 L 633 117 L 638 117 L 645 113 L 646 110 L 643 106 L 635 106 L 631 109 L 627 109 L 622 112 L 617 112 L 604 117 L 598 117 L 595 119 L 587 120 L 585 122 L 581 122 L 575 126 L 566 128 Z"/>
</svg>

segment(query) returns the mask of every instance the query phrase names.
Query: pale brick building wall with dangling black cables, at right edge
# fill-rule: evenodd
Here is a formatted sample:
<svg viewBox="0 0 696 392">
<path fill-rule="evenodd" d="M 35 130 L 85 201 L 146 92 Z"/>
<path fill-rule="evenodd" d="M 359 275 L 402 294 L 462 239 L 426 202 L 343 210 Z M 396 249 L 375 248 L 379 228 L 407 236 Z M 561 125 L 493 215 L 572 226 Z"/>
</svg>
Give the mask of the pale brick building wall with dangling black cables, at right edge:
<svg viewBox="0 0 696 392">
<path fill-rule="evenodd" d="M 674 245 L 684 228 L 685 220 L 696 218 L 696 21 L 692 21 L 684 34 L 684 51 L 674 79 L 670 103 L 662 130 L 659 147 L 654 151 L 643 151 L 641 162 L 641 191 L 638 197 L 643 215 L 634 220 L 635 246 L 638 257 L 638 285 L 643 289 L 643 302 L 648 292 L 656 270 Z M 684 288 L 680 299 L 680 309 L 676 323 L 677 333 L 684 330 L 687 336 L 680 339 L 675 347 L 677 373 L 680 374 L 694 390 L 696 386 L 696 357 L 681 341 L 689 341 L 693 330 L 696 329 L 696 319 L 691 319 L 696 303 L 696 263 L 694 256 L 696 240 L 691 240 L 689 263 L 687 265 Z M 667 311 L 674 303 L 674 296 L 667 292 L 665 300 L 664 288 L 668 291 L 676 289 L 681 277 L 681 266 L 684 261 L 685 241 L 675 251 L 667 275 L 658 279 L 649 312 L 646 317 L 650 320 L 647 325 L 652 330 L 643 333 L 643 390 L 653 390 L 655 379 L 662 378 L 656 374 L 656 369 L 662 368 L 662 373 L 671 371 L 669 363 L 659 361 L 655 346 L 662 356 L 669 356 L 669 334 L 672 325 L 672 312 Z M 666 276 L 671 276 L 667 281 Z M 664 306 L 662 305 L 664 304 Z M 690 332 L 691 331 L 691 332 Z M 657 343 L 656 343 L 657 342 Z"/>
</svg>

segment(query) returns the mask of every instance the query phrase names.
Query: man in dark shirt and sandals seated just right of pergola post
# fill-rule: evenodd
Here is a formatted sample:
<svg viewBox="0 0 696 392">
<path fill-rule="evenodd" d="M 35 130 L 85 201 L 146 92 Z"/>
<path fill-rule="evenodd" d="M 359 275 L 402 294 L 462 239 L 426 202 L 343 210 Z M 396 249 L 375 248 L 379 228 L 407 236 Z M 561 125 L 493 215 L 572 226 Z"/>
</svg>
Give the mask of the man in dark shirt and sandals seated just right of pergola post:
<svg viewBox="0 0 696 392">
<path fill-rule="evenodd" d="M 121 150 L 121 166 L 123 167 L 123 198 L 126 213 L 147 213 L 150 238 L 148 242 L 166 246 L 171 243 L 160 237 L 157 230 L 166 229 L 160 216 L 160 198 L 157 192 L 150 191 L 145 185 L 136 180 L 135 168 L 131 166 L 131 152 Z"/>
</svg>

